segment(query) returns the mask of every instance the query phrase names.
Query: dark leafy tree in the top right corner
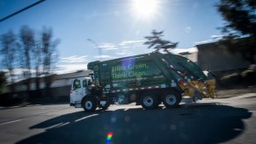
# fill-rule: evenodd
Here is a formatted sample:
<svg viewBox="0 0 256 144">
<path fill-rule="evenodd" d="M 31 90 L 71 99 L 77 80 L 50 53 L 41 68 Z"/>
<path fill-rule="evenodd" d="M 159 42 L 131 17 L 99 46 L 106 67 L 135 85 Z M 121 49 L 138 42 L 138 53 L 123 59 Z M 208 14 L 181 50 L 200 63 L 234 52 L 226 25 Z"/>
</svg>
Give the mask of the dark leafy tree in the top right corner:
<svg viewBox="0 0 256 144">
<path fill-rule="evenodd" d="M 221 28 L 225 34 L 221 44 L 229 43 L 229 51 L 240 53 L 245 60 L 255 63 L 256 55 L 256 1 L 220 0 L 216 4 L 225 25 Z M 247 39 L 236 40 L 239 37 Z"/>
</svg>

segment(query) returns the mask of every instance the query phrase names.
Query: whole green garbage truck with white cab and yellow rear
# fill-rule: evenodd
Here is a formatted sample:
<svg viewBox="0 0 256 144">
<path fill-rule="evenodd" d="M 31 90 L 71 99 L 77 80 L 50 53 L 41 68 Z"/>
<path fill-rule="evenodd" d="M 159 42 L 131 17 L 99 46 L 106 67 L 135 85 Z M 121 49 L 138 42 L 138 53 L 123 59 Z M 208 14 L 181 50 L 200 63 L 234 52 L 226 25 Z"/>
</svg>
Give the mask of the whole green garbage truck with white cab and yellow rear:
<svg viewBox="0 0 256 144">
<path fill-rule="evenodd" d="M 71 84 L 70 105 L 94 112 L 111 104 L 140 104 L 143 109 L 179 105 L 182 96 L 194 100 L 216 97 L 216 80 L 179 54 L 139 54 L 109 61 L 92 61 L 90 76 Z"/>
</svg>

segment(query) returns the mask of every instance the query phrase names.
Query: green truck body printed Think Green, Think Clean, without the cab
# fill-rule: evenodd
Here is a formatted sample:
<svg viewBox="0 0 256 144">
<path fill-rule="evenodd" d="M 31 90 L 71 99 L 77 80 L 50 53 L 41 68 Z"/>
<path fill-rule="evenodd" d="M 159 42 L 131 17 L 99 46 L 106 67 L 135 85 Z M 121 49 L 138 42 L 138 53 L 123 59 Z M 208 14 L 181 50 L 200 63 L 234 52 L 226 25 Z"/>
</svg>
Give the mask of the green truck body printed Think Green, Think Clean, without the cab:
<svg viewBox="0 0 256 144">
<path fill-rule="evenodd" d="M 94 71 L 104 93 L 166 88 L 182 91 L 179 81 L 206 79 L 194 62 L 177 54 L 150 53 L 93 61 L 87 68 Z"/>
</svg>

